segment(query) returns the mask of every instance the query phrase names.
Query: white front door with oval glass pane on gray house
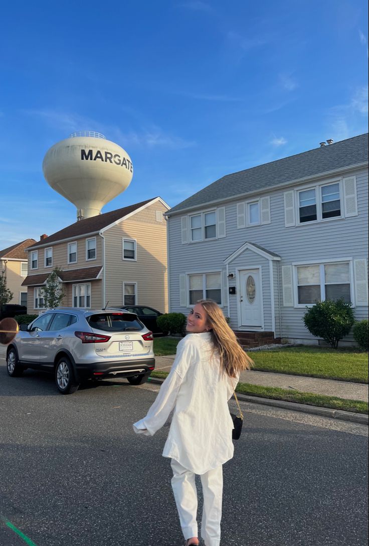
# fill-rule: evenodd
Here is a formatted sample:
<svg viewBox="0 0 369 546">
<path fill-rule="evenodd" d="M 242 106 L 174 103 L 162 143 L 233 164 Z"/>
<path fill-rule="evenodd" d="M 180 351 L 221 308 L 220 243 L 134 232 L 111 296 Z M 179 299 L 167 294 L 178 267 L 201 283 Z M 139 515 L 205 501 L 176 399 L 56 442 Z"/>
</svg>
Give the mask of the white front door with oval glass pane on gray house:
<svg viewBox="0 0 369 546">
<path fill-rule="evenodd" d="M 262 327 L 262 298 L 260 270 L 239 271 L 241 326 Z"/>
</svg>

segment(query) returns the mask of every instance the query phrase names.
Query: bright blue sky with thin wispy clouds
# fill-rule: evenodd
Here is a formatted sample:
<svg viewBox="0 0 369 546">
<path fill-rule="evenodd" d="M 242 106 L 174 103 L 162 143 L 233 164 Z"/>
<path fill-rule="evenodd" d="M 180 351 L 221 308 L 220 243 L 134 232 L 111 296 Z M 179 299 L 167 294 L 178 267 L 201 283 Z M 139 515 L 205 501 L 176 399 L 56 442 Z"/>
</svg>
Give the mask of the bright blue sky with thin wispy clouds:
<svg viewBox="0 0 369 546">
<path fill-rule="evenodd" d="M 76 221 L 42 170 L 72 132 L 134 164 L 102 212 L 366 133 L 367 21 L 364 0 L 3 3 L 0 250 Z"/>
</svg>

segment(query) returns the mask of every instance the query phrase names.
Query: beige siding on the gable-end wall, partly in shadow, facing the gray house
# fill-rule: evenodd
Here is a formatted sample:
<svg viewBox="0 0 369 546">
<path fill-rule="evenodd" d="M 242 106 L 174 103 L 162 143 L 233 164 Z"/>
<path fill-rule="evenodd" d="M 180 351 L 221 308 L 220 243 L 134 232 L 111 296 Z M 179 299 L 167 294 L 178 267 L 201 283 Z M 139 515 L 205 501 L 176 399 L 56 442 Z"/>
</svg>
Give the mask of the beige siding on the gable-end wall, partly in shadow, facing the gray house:
<svg viewBox="0 0 369 546">
<path fill-rule="evenodd" d="M 123 282 L 137 283 L 137 305 L 168 310 L 167 223 L 156 221 L 156 211 L 166 212 L 160 202 L 106 230 L 105 300 L 123 305 Z M 123 239 L 136 240 L 136 261 L 123 259 Z"/>
</svg>

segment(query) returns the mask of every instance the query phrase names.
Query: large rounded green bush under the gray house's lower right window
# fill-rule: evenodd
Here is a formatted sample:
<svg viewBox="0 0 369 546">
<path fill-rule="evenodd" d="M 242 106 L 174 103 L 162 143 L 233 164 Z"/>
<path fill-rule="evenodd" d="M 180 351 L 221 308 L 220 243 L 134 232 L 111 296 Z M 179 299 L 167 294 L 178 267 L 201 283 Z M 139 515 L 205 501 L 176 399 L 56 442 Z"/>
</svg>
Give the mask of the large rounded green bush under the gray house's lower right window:
<svg viewBox="0 0 369 546">
<path fill-rule="evenodd" d="M 307 308 L 303 321 L 313 336 L 321 337 L 336 349 L 338 341 L 349 333 L 355 319 L 350 303 L 325 300 Z"/>
</svg>

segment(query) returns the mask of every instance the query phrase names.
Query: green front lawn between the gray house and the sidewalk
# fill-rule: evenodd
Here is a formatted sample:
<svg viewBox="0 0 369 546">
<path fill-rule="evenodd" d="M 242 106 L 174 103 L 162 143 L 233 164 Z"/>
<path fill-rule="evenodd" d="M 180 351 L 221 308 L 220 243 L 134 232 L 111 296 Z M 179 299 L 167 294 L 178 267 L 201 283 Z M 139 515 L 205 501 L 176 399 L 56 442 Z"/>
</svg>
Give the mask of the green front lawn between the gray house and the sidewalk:
<svg viewBox="0 0 369 546">
<path fill-rule="evenodd" d="M 155 338 L 155 354 L 158 357 L 175 354 L 178 341 L 171 337 Z M 368 383 L 368 355 L 352 348 L 285 347 L 249 354 L 255 363 L 252 369 L 256 371 Z"/>
</svg>

